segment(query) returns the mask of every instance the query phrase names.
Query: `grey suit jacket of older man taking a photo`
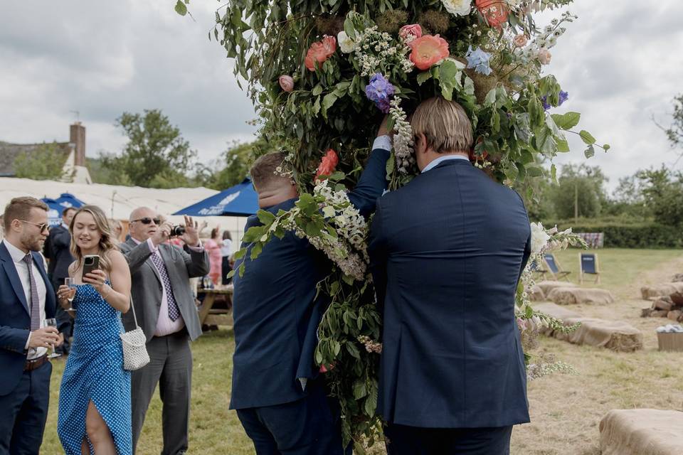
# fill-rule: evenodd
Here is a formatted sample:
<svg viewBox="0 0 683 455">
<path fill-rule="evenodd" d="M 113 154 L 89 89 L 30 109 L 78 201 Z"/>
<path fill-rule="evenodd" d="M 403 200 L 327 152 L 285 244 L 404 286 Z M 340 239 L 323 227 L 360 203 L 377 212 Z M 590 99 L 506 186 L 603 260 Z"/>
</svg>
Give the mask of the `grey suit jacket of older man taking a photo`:
<svg viewBox="0 0 683 455">
<path fill-rule="evenodd" d="M 157 330 L 157 319 L 162 304 L 162 279 L 150 258 L 152 252 L 149 251 L 147 242 L 137 245 L 134 240 L 129 239 L 120 247 L 130 267 L 131 296 L 137 323 L 142 327 L 149 341 L 154 336 L 154 331 Z M 201 324 L 189 279 L 208 274 L 208 253 L 190 250 L 188 254 L 175 245 L 162 244 L 159 245 L 159 254 L 164 259 L 166 270 L 169 272 L 173 296 L 185 321 L 187 332 L 190 339 L 194 341 L 201 335 Z M 134 327 L 132 311 L 128 311 L 123 316 L 123 323 L 127 329 Z"/>
</svg>

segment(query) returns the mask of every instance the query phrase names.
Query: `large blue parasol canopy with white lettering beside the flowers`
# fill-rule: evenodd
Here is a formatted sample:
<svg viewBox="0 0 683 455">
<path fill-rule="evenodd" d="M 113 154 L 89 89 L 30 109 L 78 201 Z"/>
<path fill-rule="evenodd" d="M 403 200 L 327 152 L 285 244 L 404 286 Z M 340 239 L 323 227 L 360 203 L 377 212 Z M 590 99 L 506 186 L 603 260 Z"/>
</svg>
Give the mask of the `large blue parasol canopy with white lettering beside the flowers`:
<svg viewBox="0 0 683 455">
<path fill-rule="evenodd" d="M 257 211 L 258 195 L 251 180 L 245 178 L 242 183 L 178 210 L 174 215 L 248 216 Z"/>
</svg>

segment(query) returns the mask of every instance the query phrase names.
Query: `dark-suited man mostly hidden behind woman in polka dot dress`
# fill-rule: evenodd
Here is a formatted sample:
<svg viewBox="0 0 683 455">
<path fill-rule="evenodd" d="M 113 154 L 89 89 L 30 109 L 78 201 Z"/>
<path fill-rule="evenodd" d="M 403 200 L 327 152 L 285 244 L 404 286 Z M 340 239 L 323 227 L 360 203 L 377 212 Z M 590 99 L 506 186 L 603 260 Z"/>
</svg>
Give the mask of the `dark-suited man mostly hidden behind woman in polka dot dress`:
<svg viewBox="0 0 683 455">
<path fill-rule="evenodd" d="M 70 252 L 71 232 L 69 232 L 69 226 L 75 213 L 76 209 L 73 207 L 62 210 L 62 223 L 50 229 L 50 235 L 48 235 L 48 240 L 46 240 L 45 248 L 43 249 L 45 257 L 50 259 L 48 263 L 48 277 L 55 290 L 64 284 L 64 279 L 69 276 L 69 265 L 73 262 L 73 256 Z M 57 316 L 55 317 L 60 326 L 67 327 L 64 334 L 64 343 L 58 349 L 58 352 L 68 354 L 72 323 L 71 316 L 58 305 Z"/>
</svg>

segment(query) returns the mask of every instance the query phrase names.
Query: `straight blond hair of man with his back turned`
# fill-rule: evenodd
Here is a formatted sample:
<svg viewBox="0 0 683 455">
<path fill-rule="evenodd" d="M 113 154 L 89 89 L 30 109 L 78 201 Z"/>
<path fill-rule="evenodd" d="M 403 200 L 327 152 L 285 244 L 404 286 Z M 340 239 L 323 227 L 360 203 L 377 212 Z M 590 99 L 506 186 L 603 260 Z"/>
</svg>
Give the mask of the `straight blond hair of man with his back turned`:
<svg viewBox="0 0 683 455">
<path fill-rule="evenodd" d="M 411 119 L 413 134 L 424 134 L 438 154 L 472 149 L 472 123 L 455 101 L 433 97 L 420 103 Z"/>
</svg>

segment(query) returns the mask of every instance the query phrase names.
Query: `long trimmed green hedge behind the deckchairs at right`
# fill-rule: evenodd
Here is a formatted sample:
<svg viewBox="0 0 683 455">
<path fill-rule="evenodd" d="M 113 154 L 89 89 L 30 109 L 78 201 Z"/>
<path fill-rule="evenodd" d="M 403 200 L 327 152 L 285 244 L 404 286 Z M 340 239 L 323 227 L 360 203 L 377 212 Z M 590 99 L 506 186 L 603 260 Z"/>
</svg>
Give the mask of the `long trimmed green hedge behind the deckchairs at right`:
<svg viewBox="0 0 683 455">
<path fill-rule="evenodd" d="M 544 223 L 549 227 L 556 223 Z M 603 232 L 605 248 L 681 248 L 683 232 L 673 226 L 654 221 L 619 223 L 615 220 L 562 220 L 558 228 L 572 228 L 573 232 Z"/>
</svg>

